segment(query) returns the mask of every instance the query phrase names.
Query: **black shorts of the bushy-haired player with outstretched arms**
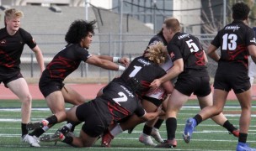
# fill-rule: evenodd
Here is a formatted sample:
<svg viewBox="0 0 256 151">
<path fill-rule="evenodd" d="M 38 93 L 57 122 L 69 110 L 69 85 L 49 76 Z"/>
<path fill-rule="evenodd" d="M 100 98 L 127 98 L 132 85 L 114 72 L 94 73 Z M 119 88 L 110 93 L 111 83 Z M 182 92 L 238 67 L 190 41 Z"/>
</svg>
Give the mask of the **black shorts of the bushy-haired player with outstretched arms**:
<svg viewBox="0 0 256 151">
<path fill-rule="evenodd" d="M 47 81 L 44 82 L 40 79 L 39 88 L 43 96 L 49 96 L 54 91 L 61 91 L 64 83 L 58 81 Z"/>
</svg>

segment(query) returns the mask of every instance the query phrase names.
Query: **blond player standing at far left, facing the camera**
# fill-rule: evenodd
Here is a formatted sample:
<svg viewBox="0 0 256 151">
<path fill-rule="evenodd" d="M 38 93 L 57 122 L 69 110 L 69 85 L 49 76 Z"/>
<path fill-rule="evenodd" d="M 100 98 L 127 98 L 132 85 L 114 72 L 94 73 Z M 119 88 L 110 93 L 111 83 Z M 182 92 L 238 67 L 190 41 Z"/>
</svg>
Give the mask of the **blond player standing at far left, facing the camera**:
<svg viewBox="0 0 256 151">
<path fill-rule="evenodd" d="M 20 28 L 20 21 L 23 13 L 15 8 L 5 11 L 5 27 L 0 29 L 0 83 L 9 88 L 19 97 L 21 105 L 21 131 L 22 140 L 31 146 L 40 147 L 38 140 L 28 135 L 26 129 L 31 115 L 32 97 L 29 87 L 20 72 L 20 56 L 27 44 L 35 53 L 40 71 L 45 70 L 44 59 L 39 46 L 26 30 Z"/>
</svg>

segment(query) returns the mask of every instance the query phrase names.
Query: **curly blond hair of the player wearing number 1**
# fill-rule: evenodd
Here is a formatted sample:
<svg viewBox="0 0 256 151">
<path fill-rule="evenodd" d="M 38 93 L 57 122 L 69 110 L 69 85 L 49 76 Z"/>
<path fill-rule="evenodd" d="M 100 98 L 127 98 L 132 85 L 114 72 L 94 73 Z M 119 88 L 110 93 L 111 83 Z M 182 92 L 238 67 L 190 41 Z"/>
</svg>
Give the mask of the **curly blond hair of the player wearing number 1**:
<svg viewBox="0 0 256 151">
<path fill-rule="evenodd" d="M 150 44 L 144 53 L 144 57 L 148 60 L 152 60 L 156 64 L 163 64 L 166 60 L 166 48 L 165 45 L 160 41 L 155 41 Z"/>
</svg>

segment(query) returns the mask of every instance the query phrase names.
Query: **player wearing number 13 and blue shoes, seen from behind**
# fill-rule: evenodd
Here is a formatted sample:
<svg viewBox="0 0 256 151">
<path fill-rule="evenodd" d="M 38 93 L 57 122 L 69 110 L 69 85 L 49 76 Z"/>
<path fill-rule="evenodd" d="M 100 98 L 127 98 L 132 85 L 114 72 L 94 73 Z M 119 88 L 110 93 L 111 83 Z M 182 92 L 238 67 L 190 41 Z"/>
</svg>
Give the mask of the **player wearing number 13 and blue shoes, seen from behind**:
<svg viewBox="0 0 256 151">
<path fill-rule="evenodd" d="M 214 81 L 213 106 L 205 107 L 194 118 L 189 118 L 184 128 L 185 141 L 189 142 L 195 127 L 207 118 L 220 114 L 227 101 L 228 92 L 233 90 L 242 108 L 239 121 L 237 150 L 251 150 L 246 143 L 251 121 L 251 85 L 248 77 L 248 55 L 256 61 L 256 43 L 253 29 L 248 27 L 250 8 L 245 3 L 232 6 L 232 23 L 227 24 L 216 35 L 207 54 L 218 63 Z M 221 48 L 221 55 L 216 50 Z"/>
</svg>

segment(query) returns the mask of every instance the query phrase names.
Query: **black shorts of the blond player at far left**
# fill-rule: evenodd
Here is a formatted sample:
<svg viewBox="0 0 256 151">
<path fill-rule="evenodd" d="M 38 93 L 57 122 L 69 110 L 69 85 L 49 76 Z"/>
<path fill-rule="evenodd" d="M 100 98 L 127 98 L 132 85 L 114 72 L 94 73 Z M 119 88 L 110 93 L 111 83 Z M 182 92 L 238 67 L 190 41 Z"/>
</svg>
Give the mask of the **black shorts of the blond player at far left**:
<svg viewBox="0 0 256 151">
<path fill-rule="evenodd" d="M 7 84 L 10 81 L 15 81 L 19 78 L 23 78 L 19 70 L 11 73 L 0 73 L 0 83 L 3 82 L 4 86 L 8 88 Z"/>
</svg>

